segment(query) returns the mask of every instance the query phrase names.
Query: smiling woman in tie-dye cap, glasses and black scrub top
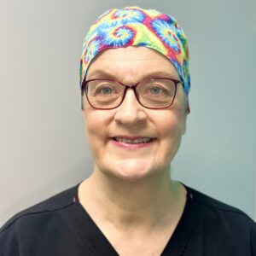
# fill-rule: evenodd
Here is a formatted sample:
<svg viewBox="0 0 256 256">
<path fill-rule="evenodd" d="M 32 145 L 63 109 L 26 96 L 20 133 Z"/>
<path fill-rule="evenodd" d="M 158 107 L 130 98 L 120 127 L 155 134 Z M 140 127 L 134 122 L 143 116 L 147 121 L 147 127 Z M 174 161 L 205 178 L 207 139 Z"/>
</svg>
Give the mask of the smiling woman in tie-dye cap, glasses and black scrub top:
<svg viewBox="0 0 256 256">
<path fill-rule="evenodd" d="M 131 7 L 99 17 L 80 66 L 94 172 L 11 218 L 3 255 L 255 255 L 246 214 L 171 178 L 189 113 L 188 63 L 171 16 Z"/>
</svg>

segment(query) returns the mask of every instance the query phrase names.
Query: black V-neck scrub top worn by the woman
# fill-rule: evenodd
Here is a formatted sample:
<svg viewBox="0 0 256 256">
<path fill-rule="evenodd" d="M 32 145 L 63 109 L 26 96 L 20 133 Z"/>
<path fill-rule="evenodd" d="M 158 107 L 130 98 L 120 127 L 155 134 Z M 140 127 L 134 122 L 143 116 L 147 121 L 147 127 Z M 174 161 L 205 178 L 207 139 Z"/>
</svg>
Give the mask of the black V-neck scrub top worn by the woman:
<svg viewBox="0 0 256 256">
<path fill-rule="evenodd" d="M 183 215 L 161 255 L 256 256 L 256 224 L 251 218 L 185 188 Z M 118 255 L 79 203 L 78 189 L 79 184 L 10 218 L 0 229 L 0 255 Z"/>
</svg>

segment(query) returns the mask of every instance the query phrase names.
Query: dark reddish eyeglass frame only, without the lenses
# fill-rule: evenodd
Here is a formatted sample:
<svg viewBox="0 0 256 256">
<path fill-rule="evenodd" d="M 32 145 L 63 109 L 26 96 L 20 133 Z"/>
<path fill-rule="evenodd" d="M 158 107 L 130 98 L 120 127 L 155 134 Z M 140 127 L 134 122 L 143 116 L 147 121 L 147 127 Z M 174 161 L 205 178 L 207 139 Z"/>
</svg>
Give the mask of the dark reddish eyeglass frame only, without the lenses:
<svg viewBox="0 0 256 256">
<path fill-rule="evenodd" d="M 170 80 L 170 81 L 172 81 L 172 82 L 175 84 L 175 91 L 174 91 L 174 96 L 173 96 L 172 102 L 171 102 L 168 106 L 166 106 L 166 107 L 161 107 L 161 108 L 148 108 L 148 107 L 144 106 L 143 103 L 140 102 L 140 100 L 139 100 L 139 96 L 137 95 L 137 91 L 136 91 L 137 85 L 138 85 L 138 84 L 142 84 L 142 83 L 145 82 L 145 81 L 160 80 L 160 79 Z M 87 92 L 88 92 L 88 90 L 87 90 L 87 88 L 88 88 L 87 84 L 88 84 L 89 82 L 91 82 L 91 81 L 102 81 L 102 80 L 114 82 L 114 83 L 120 84 L 120 85 L 122 85 L 122 86 L 124 87 L 124 95 L 123 95 L 123 98 L 122 98 L 121 102 L 118 104 L 118 106 L 116 106 L 116 107 L 114 107 L 114 108 L 119 108 L 119 106 L 122 104 L 122 102 L 124 102 L 125 95 L 126 95 L 126 91 L 127 91 L 128 89 L 132 89 L 132 90 L 134 91 L 134 94 L 135 94 L 135 96 L 136 96 L 136 98 L 137 98 L 137 102 L 139 102 L 139 104 L 140 104 L 141 106 L 143 106 L 143 108 L 148 108 L 148 109 L 163 109 L 163 108 L 169 108 L 170 106 L 172 106 L 172 103 L 174 102 L 174 99 L 175 99 L 175 96 L 176 96 L 176 93 L 177 93 L 177 84 L 182 84 L 182 85 L 183 85 L 183 81 L 180 81 L 180 80 L 177 80 L 177 79 L 170 79 L 170 78 L 152 78 L 152 79 L 144 79 L 144 80 L 138 82 L 137 84 L 133 84 L 133 85 L 126 85 L 126 84 L 123 84 L 123 83 L 121 83 L 121 82 L 119 82 L 119 81 L 117 81 L 117 80 L 113 80 L 113 79 L 89 79 L 89 80 L 84 80 L 83 83 L 82 83 L 82 85 L 81 85 L 81 96 L 82 96 L 81 108 L 82 108 L 82 110 L 84 109 L 84 107 L 83 107 L 83 92 L 84 92 L 84 91 L 85 91 L 85 96 L 86 96 L 86 98 L 87 98 L 87 101 L 89 102 L 91 108 L 101 109 L 101 110 L 110 110 L 110 109 L 114 109 L 114 108 L 96 108 L 96 107 L 94 107 L 94 106 L 90 103 L 89 97 L 88 97 L 88 95 L 87 95 Z"/>
</svg>

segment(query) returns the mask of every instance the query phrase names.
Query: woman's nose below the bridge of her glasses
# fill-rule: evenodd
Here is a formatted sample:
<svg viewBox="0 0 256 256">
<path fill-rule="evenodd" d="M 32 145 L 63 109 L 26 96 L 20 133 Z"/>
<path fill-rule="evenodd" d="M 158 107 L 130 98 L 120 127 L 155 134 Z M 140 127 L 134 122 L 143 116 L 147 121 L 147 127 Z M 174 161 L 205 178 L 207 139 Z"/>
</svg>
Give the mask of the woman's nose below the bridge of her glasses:
<svg viewBox="0 0 256 256">
<path fill-rule="evenodd" d="M 116 108 L 114 120 L 119 124 L 127 126 L 143 124 L 146 119 L 145 109 L 137 101 L 135 92 L 131 88 L 127 89 L 124 101 Z"/>
</svg>

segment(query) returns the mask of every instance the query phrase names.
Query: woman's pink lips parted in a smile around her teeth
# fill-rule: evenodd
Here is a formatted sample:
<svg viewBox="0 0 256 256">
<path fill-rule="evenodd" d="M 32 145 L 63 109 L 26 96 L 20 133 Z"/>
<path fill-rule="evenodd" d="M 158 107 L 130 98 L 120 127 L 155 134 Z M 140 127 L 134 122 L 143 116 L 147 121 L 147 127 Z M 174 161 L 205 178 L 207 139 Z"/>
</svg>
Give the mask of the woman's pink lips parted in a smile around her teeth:
<svg viewBox="0 0 256 256">
<path fill-rule="evenodd" d="M 136 137 L 115 136 L 115 137 L 124 137 L 124 138 L 129 139 L 129 140 L 136 140 L 136 139 L 139 139 L 139 138 L 143 138 L 145 136 L 136 136 Z M 131 144 L 131 143 L 117 142 L 113 138 L 114 137 L 110 137 L 110 143 L 112 143 L 114 146 L 117 146 L 119 148 L 126 148 L 126 149 L 148 148 L 148 147 L 152 146 L 152 144 L 155 141 L 155 137 L 149 137 L 149 138 L 152 138 L 152 140 L 148 143 Z"/>
</svg>

